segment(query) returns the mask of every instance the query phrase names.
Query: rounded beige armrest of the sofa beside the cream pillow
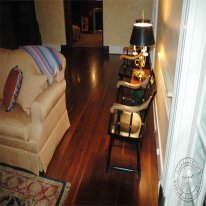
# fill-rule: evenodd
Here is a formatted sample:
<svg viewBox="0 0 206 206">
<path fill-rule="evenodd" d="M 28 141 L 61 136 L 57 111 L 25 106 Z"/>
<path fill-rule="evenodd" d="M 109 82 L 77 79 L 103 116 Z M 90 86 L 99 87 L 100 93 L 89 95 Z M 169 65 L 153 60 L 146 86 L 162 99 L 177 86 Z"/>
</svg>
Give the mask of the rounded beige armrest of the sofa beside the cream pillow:
<svg viewBox="0 0 206 206">
<path fill-rule="evenodd" d="M 47 87 L 32 103 L 31 116 L 32 119 L 43 121 L 49 112 L 65 93 L 66 82 L 62 80 L 55 82 Z"/>
</svg>

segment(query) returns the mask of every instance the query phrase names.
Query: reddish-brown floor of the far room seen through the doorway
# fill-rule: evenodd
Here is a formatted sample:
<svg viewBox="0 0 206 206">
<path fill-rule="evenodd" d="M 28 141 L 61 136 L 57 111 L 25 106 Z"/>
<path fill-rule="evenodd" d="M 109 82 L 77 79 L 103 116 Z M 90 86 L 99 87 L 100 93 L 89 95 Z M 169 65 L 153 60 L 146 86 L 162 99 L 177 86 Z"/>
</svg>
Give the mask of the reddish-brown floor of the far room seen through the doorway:
<svg viewBox="0 0 206 206">
<path fill-rule="evenodd" d="M 81 33 L 80 40 L 74 41 L 73 47 L 102 47 L 102 32 Z"/>
</svg>

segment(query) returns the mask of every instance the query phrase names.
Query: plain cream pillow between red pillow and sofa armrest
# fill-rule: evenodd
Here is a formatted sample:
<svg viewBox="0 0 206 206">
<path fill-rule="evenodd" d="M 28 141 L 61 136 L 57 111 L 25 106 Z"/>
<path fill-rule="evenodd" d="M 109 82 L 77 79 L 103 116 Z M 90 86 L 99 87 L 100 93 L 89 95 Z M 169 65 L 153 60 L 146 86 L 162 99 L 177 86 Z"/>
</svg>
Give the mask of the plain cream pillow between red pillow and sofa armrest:
<svg viewBox="0 0 206 206">
<path fill-rule="evenodd" d="M 48 81 L 46 75 L 31 73 L 27 70 L 23 71 L 22 87 L 19 92 L 17 103 L 28 115 L 31 113 L 33 101 L 43 92 L 47 85 Z"/>
</svg>

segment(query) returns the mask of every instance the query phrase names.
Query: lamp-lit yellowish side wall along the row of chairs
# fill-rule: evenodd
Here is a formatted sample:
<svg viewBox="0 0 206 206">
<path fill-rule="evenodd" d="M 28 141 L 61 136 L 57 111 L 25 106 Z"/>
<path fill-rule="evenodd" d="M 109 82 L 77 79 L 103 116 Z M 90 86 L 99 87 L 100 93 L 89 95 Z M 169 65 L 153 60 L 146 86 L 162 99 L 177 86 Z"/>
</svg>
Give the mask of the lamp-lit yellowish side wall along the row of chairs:
<svg viewBox="0 0 206 206">
<path fill-rule="evenodd" d="M 174 84 L 182 1 L 159 0 L 158 7 L 154 68 L 158 84 L 155 108 L 161 169 L 167 143 L 169 112 L 172 101 L 172 98 L 169 98 L 168 95 L 172 96 Z"/>
</svg>

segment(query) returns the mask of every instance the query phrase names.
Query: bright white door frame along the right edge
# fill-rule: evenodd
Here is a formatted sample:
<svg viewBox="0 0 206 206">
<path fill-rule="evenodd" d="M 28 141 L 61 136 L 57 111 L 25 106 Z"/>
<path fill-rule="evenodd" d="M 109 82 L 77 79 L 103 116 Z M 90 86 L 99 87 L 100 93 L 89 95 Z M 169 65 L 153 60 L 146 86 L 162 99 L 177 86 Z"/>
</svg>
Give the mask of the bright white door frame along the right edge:
<svg viewBox="0 0 206 206">
<path fill-rule="evenodd" d="M 165 205 L 182 205 L 174 191 L 174 171 L 188 155 L 196 98 L 206 46 L 206 2 L 184 0 L 175 70 L 174 91 L 161 184 Z"/>
</svg>

